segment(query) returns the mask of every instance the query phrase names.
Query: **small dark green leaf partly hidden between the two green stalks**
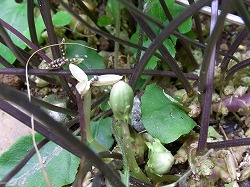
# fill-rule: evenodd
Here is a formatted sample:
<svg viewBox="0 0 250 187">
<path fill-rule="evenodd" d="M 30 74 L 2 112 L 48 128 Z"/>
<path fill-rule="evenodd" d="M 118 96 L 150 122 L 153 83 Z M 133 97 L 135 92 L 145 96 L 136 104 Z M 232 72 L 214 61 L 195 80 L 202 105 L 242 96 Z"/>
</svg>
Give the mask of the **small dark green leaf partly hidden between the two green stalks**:
<svg viewBox="0 0 250 187">
<path fill-rule="evenodd" d="M 114 138 L 111 128 L 111 118 L 100 119 L 91 122 L 91 131 L 95 140 L 103 147 L 110 149 L 114 144 Z"/>
</svg>

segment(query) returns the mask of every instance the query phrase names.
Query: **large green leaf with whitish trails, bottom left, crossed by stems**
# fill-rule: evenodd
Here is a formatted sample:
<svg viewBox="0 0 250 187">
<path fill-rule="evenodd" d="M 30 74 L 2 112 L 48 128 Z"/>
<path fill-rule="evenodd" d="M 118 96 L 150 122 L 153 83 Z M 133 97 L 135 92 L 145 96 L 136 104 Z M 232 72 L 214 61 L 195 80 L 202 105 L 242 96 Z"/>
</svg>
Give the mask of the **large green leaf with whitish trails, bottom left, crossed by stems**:
<svg viewBox="0 0 250 187">
<path fill-rule="evenodd" d="M 43 137 L 36 136 L 40 141 Z M 7 152 L 0 157 L 0 178 L 3 178 L 33 147 L 31 135 L 19 139 Z M 67 152 L 53 142 L 47 143 L 40 153 L 43 158 L 43 164 L 53 186 L 61 187 L 73 182 L 79 158 Z M 37 156 L 34 155 L 22 170 L 15 175 L 8 186 L 46 186 L 42 175 Z"/>
</svg>

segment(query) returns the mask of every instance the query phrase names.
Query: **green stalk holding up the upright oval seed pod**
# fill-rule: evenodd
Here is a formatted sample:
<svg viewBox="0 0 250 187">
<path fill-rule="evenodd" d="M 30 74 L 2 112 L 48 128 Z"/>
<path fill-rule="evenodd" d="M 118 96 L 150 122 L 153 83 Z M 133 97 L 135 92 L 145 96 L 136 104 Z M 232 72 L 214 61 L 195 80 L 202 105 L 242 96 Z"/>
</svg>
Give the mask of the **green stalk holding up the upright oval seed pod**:
<svg viewBox="0 0 250 187">
<path fill-rule="evenodd" d="M 135 159 L 135 153 L 131 144 L 130 140 L 130 131 L 128 127 L 128 123 L 125 123 L 123 121 L 120 121 L 121 127 L 122 127 L 122 148 L 125 152 L 125 157 L 128 160 L 128 165 L 131 171 L 131 175 L 137 178 L 138 180 L 141 180 L 145 183 L 150 183 L 146 175 L 142 172 L 141 168 L 138 166 L 136 159 Z"/>
</svg>

